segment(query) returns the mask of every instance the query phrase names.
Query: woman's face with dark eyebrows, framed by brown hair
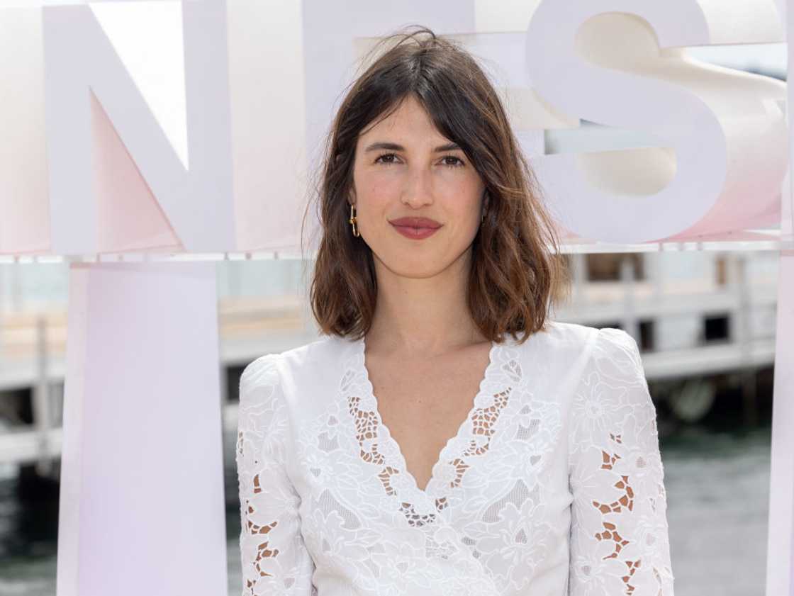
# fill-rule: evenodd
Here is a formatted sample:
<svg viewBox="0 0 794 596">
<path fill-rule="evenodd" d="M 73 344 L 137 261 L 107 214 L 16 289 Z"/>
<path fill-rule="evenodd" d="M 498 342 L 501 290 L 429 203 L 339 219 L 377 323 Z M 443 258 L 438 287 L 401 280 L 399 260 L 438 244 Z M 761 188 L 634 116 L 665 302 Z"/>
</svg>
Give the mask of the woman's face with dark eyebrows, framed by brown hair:
<svg viewBox="0 0 794 596">
<path fill-rule="evenodd" d="M 397 275 L 430 277 L 468 257 L 484 190 L 464 152 L 413 96 L 357 140 L 350 198 L 357 228 L 376 263 Z M 403 217 L 427 217 L 438 228 L 421 240 L 407 237 L 390 223 Z"/>
</svg>

